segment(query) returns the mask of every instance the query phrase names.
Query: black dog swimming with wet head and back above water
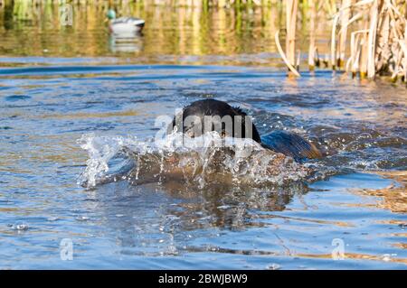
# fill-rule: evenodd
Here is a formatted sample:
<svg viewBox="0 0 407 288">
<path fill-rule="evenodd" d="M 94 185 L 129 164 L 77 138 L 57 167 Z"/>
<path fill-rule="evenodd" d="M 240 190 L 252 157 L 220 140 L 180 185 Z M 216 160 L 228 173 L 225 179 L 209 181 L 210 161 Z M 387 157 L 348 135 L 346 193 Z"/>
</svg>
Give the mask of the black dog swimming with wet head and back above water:
<svg viewBox="0 0 407 288">
<path fill-rule="evenodd" d="M 194 121 L 187 120 L 187 117 L 191 116 Z M 212 122 L 205 122 L 204 116 L 219 117 L 213 118 Z M 232 127 L 228 129 L 225 122 L 221 120 L 221 118 L 224 119 L 224 116 L 231 116 L 233 120 L 237 119 L 237 121 L 232 121 Z M 185 135 L 192 137 L 203 135 L 205 131 L 218 131 L 222 136 L 251 138 L 263 147 L 291 156 L 298 162 L 321 157 L 317 147 L 299 135 L 274 131 L 260 138 L 256 126 L 251 123 L 251 118 L 247 117 L 241 108 L 231 107 L 226 102 L 215 99 L 195 101 L 185 107 L 182 118 L 181 115 L 175 116 L 173 123 L 168 126 L 168 132 L 174 131 L 175 127 L 177 131 L 182 131 Z"/>
</svg>

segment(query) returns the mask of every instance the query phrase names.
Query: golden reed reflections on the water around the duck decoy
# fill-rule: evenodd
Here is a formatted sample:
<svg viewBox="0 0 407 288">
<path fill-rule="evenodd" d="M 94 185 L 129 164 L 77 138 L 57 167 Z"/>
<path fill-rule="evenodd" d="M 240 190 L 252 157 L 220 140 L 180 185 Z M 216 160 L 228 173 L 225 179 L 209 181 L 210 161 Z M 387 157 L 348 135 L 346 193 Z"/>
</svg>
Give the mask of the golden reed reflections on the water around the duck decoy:
<svg viewBox="0 0 407 288">
<path fill-rule="evenodd" d="M 109 39 L 105 5 L 73 5 L 72 26 L 61 24 L 58 5 L 30 6 L 24 14 L 13 5 L 0 8 L 0 55 L 95 57 L 121 56 L 133 62 L 241 63 L 281 65 L 274 33 L 284 23 L 280 5 L 253 9 L 201 9 L 165 5 L 118 5 L 118 16 L 146 20 L 143 36 L 120 43 Z M 326 14 L 321 12 L 321 18 Z M 308 39 L 304 25 L 299 39 Z M 318 50 L 327 53 L 328 25 L 317 26 Z M 298 43 L 308 51 L 307 42 Z"/>
</svg>

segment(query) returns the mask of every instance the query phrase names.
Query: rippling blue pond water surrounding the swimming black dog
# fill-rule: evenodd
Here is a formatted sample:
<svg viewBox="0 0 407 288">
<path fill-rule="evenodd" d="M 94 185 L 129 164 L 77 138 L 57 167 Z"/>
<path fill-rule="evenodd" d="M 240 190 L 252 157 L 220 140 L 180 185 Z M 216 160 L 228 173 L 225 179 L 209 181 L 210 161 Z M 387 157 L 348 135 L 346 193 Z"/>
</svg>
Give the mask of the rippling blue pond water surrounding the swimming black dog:
<svg viewBox="0 0 407 288">
<path fill-rule="evenodd" d="M 27 25 L 20 29 L 33 35 Z M 14 47 L 17 28 L 3 48 Z M 145 45 L 155 29 L 146 30 Z M 106 33 L 99 37 L 100 45 L 109 41 Z M 0 267 L 405 269 L 405 87 L 327 70 L 288 79 L 278 65 L 234 65 L 265 60 L 261 41 L 249 56 L 229 58 L 216 51 L 197 58 L 180 51 L 182 43 L 166 48 L 164 59 L 162 51 L 129 56 L 109 46 L 45 57 L 43 47 L 28 44 L 28 56 L 23 48 L 2 50 Z M 180 57 L 188 65 L 179 65 Z M 230 61 L 213 64 L 222 57 Z M 273 51 L 267 57 L 279 62 Z M 111 158 L 121 140 L 133 149 L 149 146 L 157 116 L 202 98 L 244 108 L 260 135 L 280 129 L 307 137 L 325 155 L 307 163 L 316 173 L 302 177 L 296 168 L 289 183 L 80 185 L 90 177 L 87 163 L 107 163 L 114 174 L 126 164 Z M 96 153 L 82 149 L 86 143 Z M 72 261 L 62 260 L 62 239 L 72 241 Z M 345 259 L 334 260 L 341 247 Z"/>
</svg>

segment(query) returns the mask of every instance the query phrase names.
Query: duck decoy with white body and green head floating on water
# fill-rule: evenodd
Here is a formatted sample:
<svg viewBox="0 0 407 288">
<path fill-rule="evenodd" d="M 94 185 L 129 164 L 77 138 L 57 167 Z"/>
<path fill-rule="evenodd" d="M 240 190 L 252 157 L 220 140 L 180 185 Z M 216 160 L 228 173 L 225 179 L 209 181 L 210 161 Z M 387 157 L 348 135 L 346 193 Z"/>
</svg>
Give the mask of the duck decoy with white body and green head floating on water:
<svg viewBox="0 0 407 288">
<path fill-rule="evenodd" d="M 109 30 L 114 34 L 140 33 L 143 30 L 145 21 L 134 17 L 116 18 L 113 10 L 108 12 Z"/>
</svg>

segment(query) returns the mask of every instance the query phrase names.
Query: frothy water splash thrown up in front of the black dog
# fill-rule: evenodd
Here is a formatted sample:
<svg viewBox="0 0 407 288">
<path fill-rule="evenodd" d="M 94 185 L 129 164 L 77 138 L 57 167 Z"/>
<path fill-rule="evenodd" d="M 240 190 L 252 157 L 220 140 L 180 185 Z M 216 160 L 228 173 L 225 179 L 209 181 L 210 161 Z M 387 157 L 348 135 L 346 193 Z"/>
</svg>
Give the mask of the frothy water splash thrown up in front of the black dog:
<svg viewBox="0 0 407 288">
<path fill-rule="evenodd" d="M 118 180 L 185 181 L 200 187 L 213 182 L 285 185 L 305 180 L 311 172 L 251 139 L 221 137 L 216 132 L 196 138 L 175 132 L 155 141 L 90 134 L 82 135 L 79 143 L 90 157 L 79 180 L 88 188 Z"/>
</svg>

